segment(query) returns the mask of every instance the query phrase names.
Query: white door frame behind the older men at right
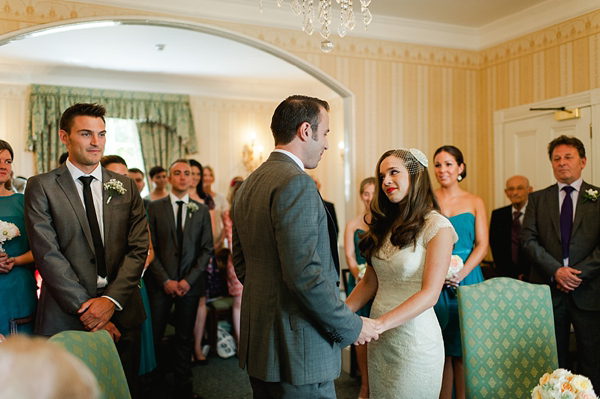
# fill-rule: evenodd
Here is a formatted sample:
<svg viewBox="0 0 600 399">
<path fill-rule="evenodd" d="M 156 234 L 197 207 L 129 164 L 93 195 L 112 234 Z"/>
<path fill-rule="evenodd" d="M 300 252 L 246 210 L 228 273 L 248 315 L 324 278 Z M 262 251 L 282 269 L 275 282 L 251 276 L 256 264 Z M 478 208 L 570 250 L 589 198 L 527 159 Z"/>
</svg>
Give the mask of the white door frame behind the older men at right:
<svg viewBox="0 0 600 399">
<path fill-rule="evenodd" d="M 502 175 L 505 124 L 554 113 L 554 111 L 530 111 L 529 108 L 566 107 L 569 109 L 588 106 L 591 107 L 592 134 L 594 134 L 594 127 L 598 129 L 600 126 L 600 89 L 582 91 L 568 96 L 551 98 L 494 112 L 494 209 L 504 206 L 506 202 L 504 195 L 505 177 Z M 600 135 L 596 133 L 595 136 L 595 140 L 592 140 L 592 148 L 586 148 L 586 168 L 593 168 L 592 170 L 600 168 L 600 159 L 596 159 L 600 156 Z"/>
</svg>

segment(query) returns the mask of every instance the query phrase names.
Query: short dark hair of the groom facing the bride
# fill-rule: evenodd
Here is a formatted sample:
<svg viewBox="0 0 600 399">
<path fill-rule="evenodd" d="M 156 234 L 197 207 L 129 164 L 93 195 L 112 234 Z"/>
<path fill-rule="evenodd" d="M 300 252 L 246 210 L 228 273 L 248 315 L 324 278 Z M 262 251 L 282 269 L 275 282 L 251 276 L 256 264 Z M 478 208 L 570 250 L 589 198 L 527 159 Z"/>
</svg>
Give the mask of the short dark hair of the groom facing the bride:
<svg viewBox="0 0 600 399">
<path fill-rule="evenodd" d="M 271 132 L 275 145 L 285 145 L 294 140 L 298 127 L 308 122 L 313 132 L 319 128 L 321 107 L 329 112 L 327 101 L 307 96 L 289 96 L 275 108 L 271 119 Z"/>
</svg>

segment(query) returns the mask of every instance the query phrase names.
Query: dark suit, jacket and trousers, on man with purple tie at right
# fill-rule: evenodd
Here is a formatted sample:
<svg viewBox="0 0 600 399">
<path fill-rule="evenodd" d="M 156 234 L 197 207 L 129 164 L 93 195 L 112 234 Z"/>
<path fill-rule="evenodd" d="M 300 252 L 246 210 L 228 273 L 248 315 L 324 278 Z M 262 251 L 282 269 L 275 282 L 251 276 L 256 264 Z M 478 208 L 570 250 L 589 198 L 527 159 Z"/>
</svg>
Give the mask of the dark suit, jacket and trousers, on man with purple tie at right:
<svg viewBox="0 0 600 399">
<path fill-rule="evenodd" d="M 580 270 L 579 287 L 568 294 L 556 288 L 553 280 L 563 266 L 560 230 L 558 185 L 529 195 L 529 203 L 521 228 L 523 249 L 532 263 L 530 282 L 549 284 L 554 304 L 559 363 L 566 367 L 569 345 L 569 327 L 575 326 L 579 351 L 579 373 L 600 385 L 600 200 L 585 198 L 585 191 L 598 190 L 586 182 L 575 208 L 571 239 L 569 241 L 569 267 Z"/>
</svg>

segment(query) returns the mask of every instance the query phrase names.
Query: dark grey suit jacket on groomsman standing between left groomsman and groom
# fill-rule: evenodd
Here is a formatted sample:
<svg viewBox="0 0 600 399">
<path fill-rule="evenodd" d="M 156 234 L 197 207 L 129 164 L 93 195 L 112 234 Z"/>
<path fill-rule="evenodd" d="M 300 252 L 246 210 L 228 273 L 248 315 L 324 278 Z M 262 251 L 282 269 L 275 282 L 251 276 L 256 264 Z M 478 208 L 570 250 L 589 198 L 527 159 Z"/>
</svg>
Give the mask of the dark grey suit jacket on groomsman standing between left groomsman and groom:
<svg viewBox="0 0 600 399">
<path fill-rule="evenodd" d="M 148 205 L 148 218 L 152 232 L 154 260 L 149 266 L 153 276 L 154 288 L 162 290 L 167 280 L 185 279 L 191 286 L 190 294 L 201 294 L 204 284 L 199 284 L 203 272 L 213 253 L 213 237 L 208 207 L 199 202 L 198 210 L 185 216 L 183 227 L 183 248 L 177 245 L 175 214 L 170 196 L 153 201 Z M 181 262 L 180 262 L 181 260 Z"/>
</svg>

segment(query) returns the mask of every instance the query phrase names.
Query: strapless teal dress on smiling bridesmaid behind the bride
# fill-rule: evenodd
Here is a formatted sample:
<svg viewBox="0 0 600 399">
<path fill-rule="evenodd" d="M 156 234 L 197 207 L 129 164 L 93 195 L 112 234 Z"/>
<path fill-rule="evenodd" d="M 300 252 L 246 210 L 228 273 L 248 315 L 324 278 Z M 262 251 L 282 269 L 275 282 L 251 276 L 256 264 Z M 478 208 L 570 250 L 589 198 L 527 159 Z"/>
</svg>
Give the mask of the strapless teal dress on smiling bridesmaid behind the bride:
<svg viewBox="0 0 600 399">
<path fill-rule="evenodd" d="M 466 262 L 475 245 L 475 215 L 472 213 L 460 213 L 448 219 L 452 223 L 452 226 L 454 226 L 456 234 L 458 234 L 458 242 L 454 245 L 452 255 L 458 255 L 463 262 Z M 481 273 L 481 267 L 477 265 L 459 285 L 477 284 L 482 281 L 483 274 Z M 440 298 L 434 306 L 434 310 L 442 328 L 446 356 L 462 356 L 458 302 L 454 289 L 444 286 Z"/>
</svg>

